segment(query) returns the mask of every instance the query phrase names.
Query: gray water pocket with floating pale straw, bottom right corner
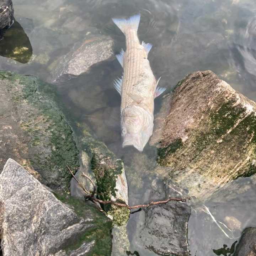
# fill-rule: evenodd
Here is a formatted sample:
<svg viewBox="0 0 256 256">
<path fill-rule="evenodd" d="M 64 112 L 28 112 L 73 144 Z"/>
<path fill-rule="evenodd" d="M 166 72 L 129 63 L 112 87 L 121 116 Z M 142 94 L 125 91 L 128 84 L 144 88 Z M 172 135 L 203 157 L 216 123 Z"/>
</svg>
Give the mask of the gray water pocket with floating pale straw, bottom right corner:
<svg viewBox="0 0 256 256">
<path fill-rule="evenodd" d="M 206 201 L 193 201 L 188 223 L 191 255 L 211 255 L 213 250 L 228 252 L 242 230 L 256 225 L 255 185 L 256 175 L 240 177 L 216 190 Z"/>
</svg>

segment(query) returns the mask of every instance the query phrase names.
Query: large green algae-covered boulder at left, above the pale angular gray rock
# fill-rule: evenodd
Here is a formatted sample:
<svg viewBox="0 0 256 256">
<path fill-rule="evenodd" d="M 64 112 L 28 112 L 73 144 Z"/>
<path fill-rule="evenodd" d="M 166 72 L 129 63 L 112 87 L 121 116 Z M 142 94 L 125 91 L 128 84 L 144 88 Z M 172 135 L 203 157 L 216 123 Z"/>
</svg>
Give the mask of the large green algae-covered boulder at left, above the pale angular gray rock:
<svg viewBox="0 0 256 256">
<path fill-rule="evenodd" d="M 53 189 L 69 190 L 79 151 L 62 112 L 33 76 L 0 72 L 0 169 L 12 157 Z"/>
</svg>

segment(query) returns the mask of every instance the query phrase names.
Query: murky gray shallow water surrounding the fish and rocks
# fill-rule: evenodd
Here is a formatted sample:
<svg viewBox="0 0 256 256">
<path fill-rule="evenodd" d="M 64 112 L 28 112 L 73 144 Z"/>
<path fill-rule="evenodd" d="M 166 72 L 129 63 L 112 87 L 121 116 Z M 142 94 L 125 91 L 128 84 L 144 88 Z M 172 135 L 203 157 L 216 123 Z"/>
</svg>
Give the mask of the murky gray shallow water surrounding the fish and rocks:
<svg viewBox="0 0 256 256">
<path fill-rule="evenodd" d="M 124 37 L 111 17 L 140 12 L 138 34 L 141 40 L 153 44 L 149 60 L 155 76 L 162 77 L 161 87 L 171 90 L 186 74 L 210 69 L 235 90 L 256 101 L 253 0 L 13 0 L 13 4 L 16 22 L 23 28 L 20 33 L 24 40 L 20 44 L 28 48 L 28 55 L 20 62 L 2 57 L 7 56 L 6 49 L 11 47 L 6 36 L 0 41 L 1 70 L 32 74 L 49 81 L 54 61 L 87 35 L 110 35 L 118 53 L 124 47 Z M 11 30 L 14 37 L 21 38 L 14 31 L 15 26 L 9 33 Z M 123 159 L 127 166 L 129 203 L 134 205 L 145 203 L 148 191 L 154 189 L 154 181 L 167 173 L 153 172 L 156 151 L 149 145 L 142 154 L 133 148 L 121 148 L 121 100 L 112 86 L 121 72 L 117 60 L 108 60 L 93 66 L 89 73 L 59 82 L 57 88 L 71 126 L 79 132 L 78 127 L 89 125 L 95 136 Z M 155 112 L 160 103 L 161 98 L 157 98 Z M 245 227 L 256 225 L 255 183 L 255 178 L 239 178 L 211 201 L 191 202 L 193 210 L 188 225 L 191 255 L 215 255 L 213 249 L 220 248 L 225 253 L 224 244 L 230 248 Z M 235 217 L 241 225 L 231 232 L 219 224 L 224 234 L 203 205 L 217 221 L 224 223 L 226 217 Z M 140 256 L 155 255 L 133 240 L 139 223 L 139 214 L 132 214 L 128 223 L 130 250 L 138 251 Z"/>
</svg>

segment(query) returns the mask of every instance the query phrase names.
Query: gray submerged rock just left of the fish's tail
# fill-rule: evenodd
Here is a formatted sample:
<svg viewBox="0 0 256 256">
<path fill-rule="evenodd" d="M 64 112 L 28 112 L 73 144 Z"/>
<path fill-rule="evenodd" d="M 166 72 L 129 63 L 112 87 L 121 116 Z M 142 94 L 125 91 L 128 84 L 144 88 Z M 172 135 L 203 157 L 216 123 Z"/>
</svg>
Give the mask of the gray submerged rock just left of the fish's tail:
<svg viewBox="0 0 256 256">
<path fill-rule="evenodd" d="M 80 75 L 94 64 L 114 56 L 113 40 L 107 36 L 90 36 L 74 45 L 68 54 L 52 64 L 51 82 L 56 82 L 64 74 Z"/>
</svg>

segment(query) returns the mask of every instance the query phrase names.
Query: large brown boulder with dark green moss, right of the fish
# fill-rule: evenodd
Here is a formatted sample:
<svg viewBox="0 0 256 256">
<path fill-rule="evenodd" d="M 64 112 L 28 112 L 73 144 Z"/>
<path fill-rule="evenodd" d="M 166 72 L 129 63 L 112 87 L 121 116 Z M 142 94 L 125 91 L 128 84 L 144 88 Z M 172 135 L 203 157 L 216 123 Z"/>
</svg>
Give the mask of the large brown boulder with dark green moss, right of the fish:
<svg viewBox="0 0 256 256">
<path fill-rule="evenodd" d="M 159 168 L 191 195 L 209 195 L 256 172 L 256 103 L 211 71 L 197 71 L 165 97 L 151 144 Z M 164 122 L 163 122 L 164 120 Z"/>
</svg>

